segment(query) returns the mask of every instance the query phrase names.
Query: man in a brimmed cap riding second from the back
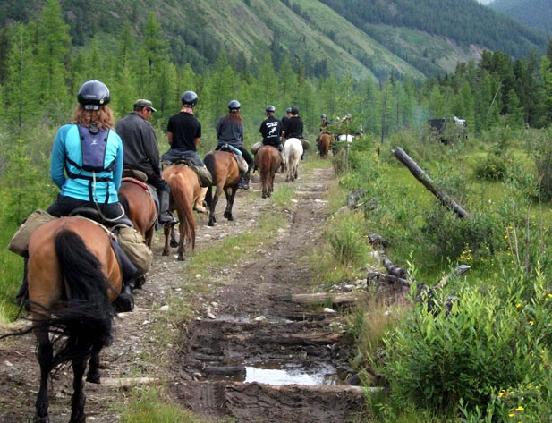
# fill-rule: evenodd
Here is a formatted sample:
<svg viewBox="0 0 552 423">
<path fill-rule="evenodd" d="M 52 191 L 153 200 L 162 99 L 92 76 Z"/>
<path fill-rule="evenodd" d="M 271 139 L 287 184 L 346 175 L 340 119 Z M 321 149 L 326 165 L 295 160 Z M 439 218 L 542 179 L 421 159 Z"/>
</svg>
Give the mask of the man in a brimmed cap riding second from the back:
<svg viewBox="0 0 552 423">
<path fill-rule="evenodd" d="M 155 187 L 159 197 L 159 224 L 177 224 L 169 211 L 169 185 L 163 179 L 159 165 L 159 150 L 156 133 L 148 122 L 149 116 L 157 110 L 151 101 L 140 99 L 134 103 L 134 110 L 115 125 L 124 148 L 124 167 L 137 169 L 148 176 L 148 183 Z"/>
</svg>

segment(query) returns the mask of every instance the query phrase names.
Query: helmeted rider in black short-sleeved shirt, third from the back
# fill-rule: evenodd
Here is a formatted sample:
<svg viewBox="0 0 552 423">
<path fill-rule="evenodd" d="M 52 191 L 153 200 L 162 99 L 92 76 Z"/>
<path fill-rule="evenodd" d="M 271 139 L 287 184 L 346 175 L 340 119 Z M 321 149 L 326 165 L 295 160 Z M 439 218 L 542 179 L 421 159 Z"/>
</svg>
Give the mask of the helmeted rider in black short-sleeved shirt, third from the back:
<svg viewBox="0 0 552 423">
<path fill-rule="evenodd" d="M 192 165 L 202 168 L 202 172 L 208 172 L 203 160 L 198 156 L 201 123 L 193 114 L 193 107 L 198 104 L 198 101 L 198 95 L 194 91 L 183 92 L 183 108 L 169 118 L 169 123 L 166 126 L 166 136 L 171 148 L 161 157 L 161 161 L 173 163 L 179 158 L 185 158 Z M 208 187 L 201 187 L 200 197 L 194 206 L 200 213 L 207 213 L 207 208 L 203 206 L 207 190 Z"/>
</svg>

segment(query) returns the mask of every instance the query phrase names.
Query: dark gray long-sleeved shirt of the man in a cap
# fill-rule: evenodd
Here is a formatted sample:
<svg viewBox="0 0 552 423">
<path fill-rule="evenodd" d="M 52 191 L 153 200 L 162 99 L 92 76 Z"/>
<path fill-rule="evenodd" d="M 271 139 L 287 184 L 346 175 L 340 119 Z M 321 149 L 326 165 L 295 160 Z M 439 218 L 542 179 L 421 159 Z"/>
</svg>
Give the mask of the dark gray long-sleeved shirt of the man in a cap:
<svg viewBox="0 0 552 423">
<path fill-rule="evenodd" d="M 140 114 L 131 112 L 115 125 L 123 140 L 124 166 L 161 176 L 156 133 Z"/>
</svg>

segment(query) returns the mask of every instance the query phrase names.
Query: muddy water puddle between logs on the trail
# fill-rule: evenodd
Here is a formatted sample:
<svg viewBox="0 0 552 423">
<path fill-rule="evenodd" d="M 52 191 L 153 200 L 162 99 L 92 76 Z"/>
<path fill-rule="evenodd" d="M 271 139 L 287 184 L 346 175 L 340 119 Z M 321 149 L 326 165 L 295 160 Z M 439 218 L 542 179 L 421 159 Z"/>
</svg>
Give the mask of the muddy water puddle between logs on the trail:
<svg viewBox="0 0 552 423">
<path fill-rule="evenodd" d="M 268 362 L 245 367 L 244 383 L 268 385 L 338 385 L 337 370 L 329 364 L 305 368 L 298 364 Z"/>
</svg>

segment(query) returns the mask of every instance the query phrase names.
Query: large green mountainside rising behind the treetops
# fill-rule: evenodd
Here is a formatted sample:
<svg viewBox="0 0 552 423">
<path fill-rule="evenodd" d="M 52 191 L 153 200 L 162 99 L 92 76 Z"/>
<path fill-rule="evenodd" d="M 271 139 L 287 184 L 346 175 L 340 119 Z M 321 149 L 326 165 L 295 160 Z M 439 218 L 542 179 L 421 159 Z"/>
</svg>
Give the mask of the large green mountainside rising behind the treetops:
<svg viewBox="0 0 552 423">
<path fill-rule="evenodd" d="M 36 19 L 47 0 L 3 0 L 0 26 Z M 126 21 L 138 35 L 156 14 L 178 64 L 200 71 L 221 50 L 259 70 L 267 54 L 310 76 L 409 77 L 453 72 L 483 49 L 522 57 L 546 40 L 473 0 L 60 0 L 75 46 L 95 35 L 115 45 Z M 505 28 L 509 31 L 505 33 Z"/>
</svg>

